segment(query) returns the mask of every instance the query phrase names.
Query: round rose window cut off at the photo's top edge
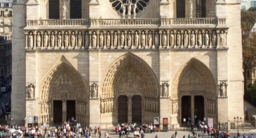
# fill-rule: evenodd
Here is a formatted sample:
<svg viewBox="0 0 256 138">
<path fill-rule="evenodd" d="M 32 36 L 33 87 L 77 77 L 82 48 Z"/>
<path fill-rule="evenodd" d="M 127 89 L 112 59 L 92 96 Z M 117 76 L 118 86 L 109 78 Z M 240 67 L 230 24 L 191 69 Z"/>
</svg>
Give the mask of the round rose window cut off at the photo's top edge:
<svg viewBox="0 0 256 138">
<path fill-rule="evenodd" d="M 126 7 L 125 14 L 128 13 L 129 1 L 132 5 L 136 4 L 136 13 L 141 13 L 149 4 L 149 0 L 109 0 L 112 8 L 120 14 L 123 13 L 123 5 Z M 133 11 L 131 10 L 131 14 L 133 14 Z"/>
</svg>

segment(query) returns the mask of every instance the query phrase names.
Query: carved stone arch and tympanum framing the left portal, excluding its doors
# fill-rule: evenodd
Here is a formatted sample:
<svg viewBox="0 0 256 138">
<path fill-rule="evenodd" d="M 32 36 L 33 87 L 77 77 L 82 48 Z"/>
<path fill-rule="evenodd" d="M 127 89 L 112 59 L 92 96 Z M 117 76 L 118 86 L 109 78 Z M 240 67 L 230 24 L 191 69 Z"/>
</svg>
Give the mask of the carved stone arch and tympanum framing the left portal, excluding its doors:
<svg viewBox="0 0 256 138">
<path fill-rule="evenodd" d="M 69 65 L 62 63 L 53 69 L 46 78 L 41 89 L 41 114 L 42 122 L 49 120 L 52 100 L 76 100 L 76 112 L 86 113 L 86 90 L 79 74 Z"/>
</svg>

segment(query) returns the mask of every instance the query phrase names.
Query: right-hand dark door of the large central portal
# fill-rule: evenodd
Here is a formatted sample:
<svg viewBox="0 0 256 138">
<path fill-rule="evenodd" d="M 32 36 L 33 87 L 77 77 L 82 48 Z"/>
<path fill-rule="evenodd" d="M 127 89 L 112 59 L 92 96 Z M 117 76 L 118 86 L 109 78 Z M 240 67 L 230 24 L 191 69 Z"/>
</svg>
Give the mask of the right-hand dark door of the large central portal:
<svg viewBox="0 0 256 138">
<path fill-rule="evenodd" d="M 128 123 L 134 123 L 141 124 L 141 97 L 139 95 L 135 95 L 132 97 L 132 122 Z"/>
</svg>

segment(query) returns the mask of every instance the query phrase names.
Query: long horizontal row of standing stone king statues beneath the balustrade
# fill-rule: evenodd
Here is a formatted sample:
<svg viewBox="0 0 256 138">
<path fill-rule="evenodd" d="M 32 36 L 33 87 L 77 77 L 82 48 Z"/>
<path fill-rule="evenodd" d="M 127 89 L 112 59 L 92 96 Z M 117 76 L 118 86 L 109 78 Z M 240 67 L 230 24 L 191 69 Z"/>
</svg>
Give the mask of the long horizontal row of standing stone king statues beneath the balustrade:
<svg viewBox="0 0 256 138">
<path fill-rule="evenodd" d="M 226 48 L 227 37 L 224 30 L 164 30 L 160 33 L 151 30 L 49 31 L 25 34 L 25 49 L 33 50 L 87 49 L 89 46 L 90 49 Z"/>
</svg>

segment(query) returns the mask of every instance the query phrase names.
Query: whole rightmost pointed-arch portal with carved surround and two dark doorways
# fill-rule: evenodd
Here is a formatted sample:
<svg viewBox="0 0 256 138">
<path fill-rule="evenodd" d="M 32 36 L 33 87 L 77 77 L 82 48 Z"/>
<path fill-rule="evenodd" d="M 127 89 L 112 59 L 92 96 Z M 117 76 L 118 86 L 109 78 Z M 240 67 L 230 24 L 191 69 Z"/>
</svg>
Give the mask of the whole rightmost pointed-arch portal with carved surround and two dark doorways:
<svg viewBox="0 0 256 138">
<path fill-rule="evenodd" d="M 176 73 L 172 85 L 172 116 L 179 123 L 183 118 L 192 121 L 213 118 L 217 125 L 217 85 L 209 68 L 192 58 Z M 182 101 L 182 99 L 187 99 Z M 186 105 L 186 107 L 184 107 Z"/>
</svg>

